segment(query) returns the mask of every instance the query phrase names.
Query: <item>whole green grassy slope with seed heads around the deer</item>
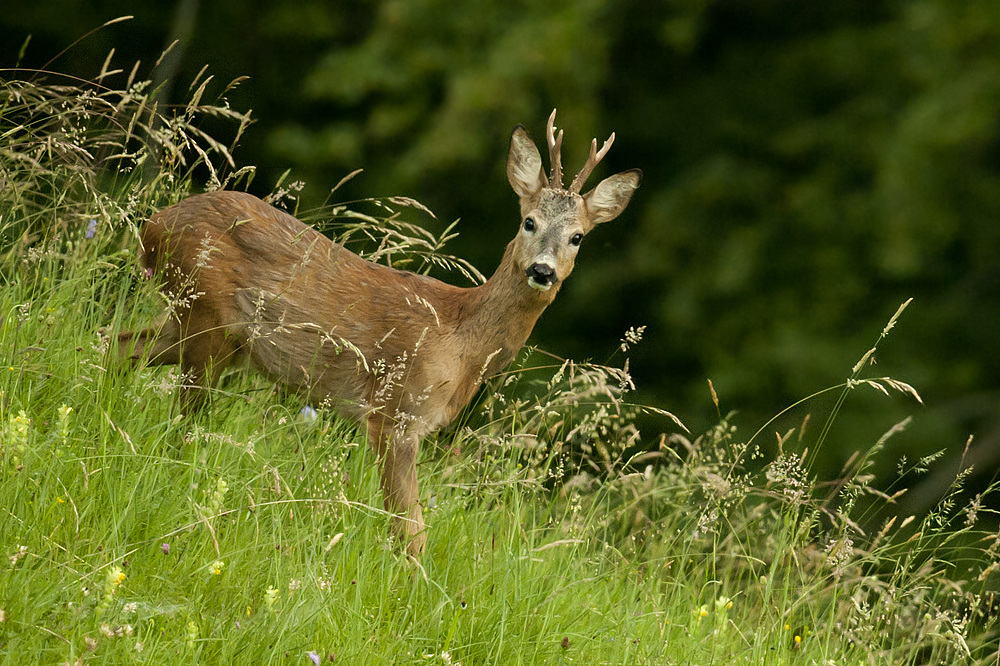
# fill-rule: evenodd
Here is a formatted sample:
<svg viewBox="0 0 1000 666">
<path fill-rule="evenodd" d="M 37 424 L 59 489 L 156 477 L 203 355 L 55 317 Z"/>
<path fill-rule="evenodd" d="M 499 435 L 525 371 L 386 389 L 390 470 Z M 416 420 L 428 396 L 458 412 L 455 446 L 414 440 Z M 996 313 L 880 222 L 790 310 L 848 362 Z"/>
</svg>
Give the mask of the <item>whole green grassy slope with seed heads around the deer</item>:
<svg viewBox="0 0 1000 666">
<path fill-rule="evenodd" d="M 992 489 L 890 519 L 895 430 L 834 480 L 806 429 L 768 458 L 727 418 L 635 457 L 656 410 L 620 368 L 504 375 L 425 443 L 415 562 L 363 431 L 242 371 L 183 417 L 183 377 L 118 367 L 101 331 L 156 310 L 141 220 L 247 171 L 199 133 L 224 105 L 196 93 L 156 135 L 113 78 L 0 99 L 0 663 L 996 663 Z M 394 215 L 327 213 L 462 268 Z M 833 390 L 907 392 L 863 371 Z"/>
</svg>

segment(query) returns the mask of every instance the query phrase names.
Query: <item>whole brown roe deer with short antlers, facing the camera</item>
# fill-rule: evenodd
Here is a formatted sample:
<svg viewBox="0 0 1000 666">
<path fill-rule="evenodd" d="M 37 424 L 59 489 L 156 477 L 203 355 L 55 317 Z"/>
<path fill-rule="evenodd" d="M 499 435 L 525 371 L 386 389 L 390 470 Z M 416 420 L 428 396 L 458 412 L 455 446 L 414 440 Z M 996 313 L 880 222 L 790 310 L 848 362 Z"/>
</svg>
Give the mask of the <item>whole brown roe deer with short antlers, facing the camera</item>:
<svg viewBox="0 0 1000 666">
<path fill-rule="evenodd" d="M 151 328 L 121 333 L 119 355 L 177 364 L 193 379 L 185 403 L 243 358 L 271 380 L 363 422 L 381 464 L 386 509 L 407 552 L 426 543 L 417 449 L 482 382 L 506 366 L 555 298 L 583 237 L 613 220 L 638 169 L 580 194 L 614 134 L 563 188 L 555 111 L 551 173 L 524 127 L 514 128 L 507 178 L 521 223 L 496 273 L 460 288 L 365 261 L 315 229 L 241 192 L 210 192 L 165 208 L 142 230 L 142 263 L 173 299 Z"/>
</svg>

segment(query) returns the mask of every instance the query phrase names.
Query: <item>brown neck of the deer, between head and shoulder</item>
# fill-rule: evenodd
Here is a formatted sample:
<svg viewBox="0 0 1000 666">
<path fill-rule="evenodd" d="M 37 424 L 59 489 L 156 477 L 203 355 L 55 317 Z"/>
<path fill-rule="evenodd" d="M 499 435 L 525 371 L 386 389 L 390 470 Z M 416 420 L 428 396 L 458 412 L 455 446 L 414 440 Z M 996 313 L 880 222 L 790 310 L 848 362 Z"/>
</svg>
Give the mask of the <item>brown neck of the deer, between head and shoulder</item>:
<svg viewBox="0 0 1000 666">
<path fill-rule="evenodd" d="M 507 245 L 490 279 L 469 290 L 466 349 L 472 358 L 482 359 L 487 377 L 513 360 L 559 289 L 555 285 L 538 291 L 528 285 L 524 271 L 514 261 L 515 243 L 516 239 Z"/>
</svg>

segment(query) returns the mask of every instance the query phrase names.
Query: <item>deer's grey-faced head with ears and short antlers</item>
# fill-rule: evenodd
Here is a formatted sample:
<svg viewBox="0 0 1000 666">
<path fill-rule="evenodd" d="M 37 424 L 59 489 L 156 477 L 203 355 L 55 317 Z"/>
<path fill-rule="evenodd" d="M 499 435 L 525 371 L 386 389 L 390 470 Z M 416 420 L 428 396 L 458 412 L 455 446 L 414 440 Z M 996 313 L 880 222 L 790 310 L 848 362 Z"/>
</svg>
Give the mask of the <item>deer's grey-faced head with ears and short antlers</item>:
<svg viewBox="0 0 1000 666">
<path fill-rule="evenodd" d="M 548 177 L 538 148 L 521 125 L 511 134 L 507 158 L 507 180 L 521 200 L 521 231 L 511 244 L 513 259 L 524 272 L 528 286 L 539 292 L 552 290 L 550 297 L 572 272 L 583 237 L 625 210 L 642 177 L 639 169 L 623 171 L 580 194 L 587 177 L 614 143 L 612 133 L 600 150 L 597 139 L 593 140 L 586 164 L 569 189 L 564 189 L 560 154 L 563 132 L 556 134 L 555 119 L 553 109 L 546 125 L 551 165 Z"/>
</svg>

